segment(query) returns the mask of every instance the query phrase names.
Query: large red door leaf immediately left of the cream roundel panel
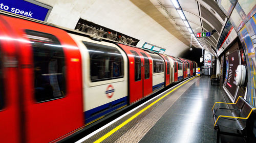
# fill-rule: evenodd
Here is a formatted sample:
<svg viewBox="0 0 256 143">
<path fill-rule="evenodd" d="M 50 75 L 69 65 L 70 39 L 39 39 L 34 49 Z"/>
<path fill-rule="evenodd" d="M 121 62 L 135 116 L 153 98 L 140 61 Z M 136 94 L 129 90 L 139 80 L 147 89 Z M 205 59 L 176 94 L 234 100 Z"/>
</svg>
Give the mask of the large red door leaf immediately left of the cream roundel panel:
<svg viewBox="0 0 256 143">
<path fill-rule="evenodd" d="M 13 28 L 22 39 L 18 76 L 24 142 L 50 142 L 83 126 L 81 58 L 75 42 L 54 27 L 5 19 L 19 23 Z"/>
</svg>

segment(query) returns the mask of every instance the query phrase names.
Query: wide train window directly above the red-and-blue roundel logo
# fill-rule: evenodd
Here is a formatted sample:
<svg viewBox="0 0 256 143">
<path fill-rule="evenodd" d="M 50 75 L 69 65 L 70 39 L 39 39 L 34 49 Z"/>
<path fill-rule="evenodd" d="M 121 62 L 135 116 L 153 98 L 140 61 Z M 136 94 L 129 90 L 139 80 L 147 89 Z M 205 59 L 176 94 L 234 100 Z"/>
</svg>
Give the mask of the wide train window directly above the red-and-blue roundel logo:
<svg viewBox="0 0 256 143">
<path fill-rule="evenodd" d="M 117 48 L 82 42 L 89 51 L 92 82 L 123 78 L 123 56 Z"/>
</svg>

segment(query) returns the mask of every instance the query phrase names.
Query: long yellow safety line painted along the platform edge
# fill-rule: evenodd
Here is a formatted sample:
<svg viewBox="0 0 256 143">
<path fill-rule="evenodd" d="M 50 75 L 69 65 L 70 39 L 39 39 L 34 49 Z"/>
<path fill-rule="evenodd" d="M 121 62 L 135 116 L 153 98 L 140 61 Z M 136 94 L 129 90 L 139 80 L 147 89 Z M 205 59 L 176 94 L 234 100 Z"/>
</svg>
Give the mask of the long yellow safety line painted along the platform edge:
<svg viewBox="0 0 256 143">
<path fill-rule="evenodd" d="M 197 76 L 193 77 L 196 78 Z M 191 78 L 191 79 L 193 79 Z M 191 80 L 189 79 L 189 80 Z M 187 80 L 186 82 L 188 82 L 189 80 Z M 129 123 L 130 121 L 132 121 L 134 118 L 136 118 L 137 116 L 139 116 L 143 111 L 145 111 L 146 109 L 150 108 L 152 105 L 156 104 L 158 101 L 160 101 L 161 99 L 163 99 L 165 96 L 167 96 L 168 94 L 172 93 L 173 91 L 175 91 L 176 89 L 178 89 L 179 87 L 181 87 L 183 84 L 185 84 L 186 82 L 180 84 L 177 88 L 173 89 L 172 91 L 166 93 L 164 96 L 160 97 L 159 99 L 157 99 L 155 102 L 151 103 L 150 105 L 146 106 L 144 109 L 140 110 L 139 112 L 137 112 L 134 116 L 132 116 L 131 118 L 129 118 L 128 120 L 124 121 L 122 124 L 120 124 L 119 126 L 117 126 L 116 128 L 114 128 L 113 130 L 111 130 L 110 132 L 106 133 L 105 135 L 103 135 L 102 137 L 100 137 L 98 140 L 94 141 L 94 142 L 101 142 L 104 139 L 106 139 L 107 137 L 109 137 L 110 135 L 112 135 L 114 132 L 116 132 L 117 130 L 119 130 L 120 128 L 122 128 L 124 125 L 126 125 L 127 123 Z"/>
</svg>

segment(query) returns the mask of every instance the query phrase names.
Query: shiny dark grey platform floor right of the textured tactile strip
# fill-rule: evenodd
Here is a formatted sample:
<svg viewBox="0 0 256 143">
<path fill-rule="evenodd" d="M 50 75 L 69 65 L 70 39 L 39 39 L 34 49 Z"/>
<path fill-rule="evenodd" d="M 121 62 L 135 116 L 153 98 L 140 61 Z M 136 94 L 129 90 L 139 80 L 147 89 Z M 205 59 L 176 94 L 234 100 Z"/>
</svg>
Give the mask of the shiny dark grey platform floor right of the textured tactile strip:
<svg viewBox="0 0 256 143">
<path fill-rule="evenodd" d="M 140 142 L 216 142 L 211 108 L 224 101 L 219 85 L 201 77 L 170 107 Z"/>
</svg>

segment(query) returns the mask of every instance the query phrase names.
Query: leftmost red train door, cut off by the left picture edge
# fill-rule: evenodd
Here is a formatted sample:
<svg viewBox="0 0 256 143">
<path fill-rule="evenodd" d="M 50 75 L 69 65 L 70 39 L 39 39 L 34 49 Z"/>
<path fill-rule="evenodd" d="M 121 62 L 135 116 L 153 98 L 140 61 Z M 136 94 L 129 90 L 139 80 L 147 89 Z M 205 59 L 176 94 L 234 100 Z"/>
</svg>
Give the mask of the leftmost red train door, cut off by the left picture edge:
<svg viewBox="0 0 256 143">
<path fill-rule="evenodd" d="M 0 16 L 0 139 L 1 142 L 20 142 L 21 97 L 18 94 L 18 68 L 15 38 L 6 21 Z"/>
</svg>

